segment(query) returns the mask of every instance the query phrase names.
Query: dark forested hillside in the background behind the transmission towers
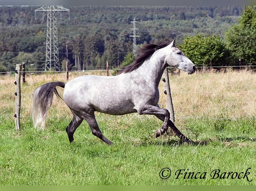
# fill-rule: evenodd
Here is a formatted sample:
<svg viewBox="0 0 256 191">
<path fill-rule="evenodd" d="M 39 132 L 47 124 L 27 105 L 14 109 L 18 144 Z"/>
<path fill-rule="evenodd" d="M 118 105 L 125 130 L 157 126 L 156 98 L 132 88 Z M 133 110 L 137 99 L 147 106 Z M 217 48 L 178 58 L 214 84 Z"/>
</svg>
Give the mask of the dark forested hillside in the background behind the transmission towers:
<svg viewBox="0 0 256 191">
<path fill-rule="evenodd" d="M 64 6 L 56 13 L 59 64 L 66 70 L 114 69 L 132 52 L 132 21 L 137 50 L 148 43 L 177 38 L 182 44 L 199 33 L 219 35 L 236 25 L 244 6 Z M 40 6 L 0 6 L 0 72 L 45 70 L 47 12 Z"/>
</svg>

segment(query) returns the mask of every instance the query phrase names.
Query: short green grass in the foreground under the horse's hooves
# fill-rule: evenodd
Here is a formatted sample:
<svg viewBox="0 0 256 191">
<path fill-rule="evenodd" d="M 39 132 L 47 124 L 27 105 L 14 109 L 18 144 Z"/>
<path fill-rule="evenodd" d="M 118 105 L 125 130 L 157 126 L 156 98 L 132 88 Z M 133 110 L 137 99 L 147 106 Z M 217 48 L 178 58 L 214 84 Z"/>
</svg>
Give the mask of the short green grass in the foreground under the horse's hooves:
<svg viewBox="0 0 256 191">
<path fill-rule="evenodd" d="M 255 185 L 255 118 L 185 119 L 175 124 L 197 141 L 179 142 L 171 133 L 155 138 L 161 121 L 153 116 L 97 114 L 108 146 L 93 136 L 86 122 L 70 144 L 65 131 L 71 117 L 47 118 L 44 131 L 32 128 L 30 117 L 16 132 L 14 120 L 0 118 L 0 185 Z M 199 144 L 207 141 L 207 144 Z M 172 174 L 161 179 L 168 167 Z M 247 179 L 212 179 L 215 169 L 245 172 Z M 205 179 L 176 179 L 175 172 L 206 172 Z M 188 169 L 188 170 L 187 170 Z"/>
</svg>

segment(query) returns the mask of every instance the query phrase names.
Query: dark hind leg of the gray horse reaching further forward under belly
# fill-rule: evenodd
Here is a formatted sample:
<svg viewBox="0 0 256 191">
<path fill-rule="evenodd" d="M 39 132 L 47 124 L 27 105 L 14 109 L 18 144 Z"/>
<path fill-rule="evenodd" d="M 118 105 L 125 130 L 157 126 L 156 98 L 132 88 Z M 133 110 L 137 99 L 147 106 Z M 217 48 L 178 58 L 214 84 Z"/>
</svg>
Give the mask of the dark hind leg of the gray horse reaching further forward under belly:
<svg viewBox="0 0 256 191">
<path fill-rule="evenodd" d="M 89 124 L 93 135 L 95 135 L 96 137 L 100 138 L 101 140 L 103 140 L 105 143 L 107 143 L 108 145 L 112 145 L 112 142 L 110 140 L 108 140 L 101 132 L 99 125 L 96 121 L 94 112 L 92 112 L 90 115 L 86 115 L 86 117 L 84 117 L 84 119 L 87 121 L 87 123 Z"/>
</svg>

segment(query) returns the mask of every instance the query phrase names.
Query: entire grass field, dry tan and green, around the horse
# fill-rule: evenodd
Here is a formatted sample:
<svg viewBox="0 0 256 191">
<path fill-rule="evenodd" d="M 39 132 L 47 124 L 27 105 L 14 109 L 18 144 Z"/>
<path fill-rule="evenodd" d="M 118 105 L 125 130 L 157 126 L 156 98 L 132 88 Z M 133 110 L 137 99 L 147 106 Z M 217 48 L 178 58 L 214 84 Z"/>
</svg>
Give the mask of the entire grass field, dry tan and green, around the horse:
<svg viewBox="0 0 256 191">
<path fill-rule="evenodd" d="M 80 75 L 70 73 L 69 79 Z M 96 118 L 112 146 L 92 135 L 85 121 L 70 144 L 65 128 L 72 115 L 56 97 L 46 130 L 36 131 L 33 90 L 57 80 L 66 81 L 66 74 L 26 76 L 17 132 L 15 77 L 0 76 L 0 185 L 256 185 L 255 73 L 170 76 L 175 124 L 195 145 L 182 144 L 171 131 L 155 138 L 162 122 L 154 116 L 102 113 Z M 159 90 L 165 107 L 163 82 Z M 169 177 L 163 168 L 171 170 Z"/>
</svg>

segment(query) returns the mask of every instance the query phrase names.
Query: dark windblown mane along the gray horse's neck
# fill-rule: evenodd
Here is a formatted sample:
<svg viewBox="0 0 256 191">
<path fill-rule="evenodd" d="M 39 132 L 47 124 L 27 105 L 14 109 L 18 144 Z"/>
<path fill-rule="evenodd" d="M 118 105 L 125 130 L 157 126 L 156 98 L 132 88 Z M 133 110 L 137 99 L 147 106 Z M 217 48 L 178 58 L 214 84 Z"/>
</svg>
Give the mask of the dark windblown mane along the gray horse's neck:
<svg viewBox="0 0 256 191">
<path fill-rule="evenodd" d="M 140 65 L 145 60 L 149 59 L 155 51 L 166 47 L 170 43 L 171 43 L 171 41 L 166 41 L 159 45 L 156 45 L 156 44 L 143 45 L 143 47 L 140 48 L 139 55 L 135 58 L 134 62 L 131 65 L 122 68 L 117 74 L 129 73 L 129 72 L 136 70 L 137 68 L 140 67 Z"/>
</svg>

